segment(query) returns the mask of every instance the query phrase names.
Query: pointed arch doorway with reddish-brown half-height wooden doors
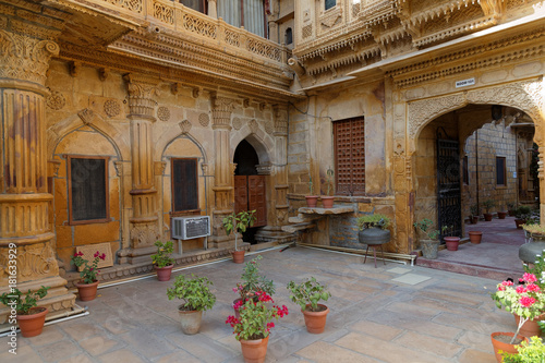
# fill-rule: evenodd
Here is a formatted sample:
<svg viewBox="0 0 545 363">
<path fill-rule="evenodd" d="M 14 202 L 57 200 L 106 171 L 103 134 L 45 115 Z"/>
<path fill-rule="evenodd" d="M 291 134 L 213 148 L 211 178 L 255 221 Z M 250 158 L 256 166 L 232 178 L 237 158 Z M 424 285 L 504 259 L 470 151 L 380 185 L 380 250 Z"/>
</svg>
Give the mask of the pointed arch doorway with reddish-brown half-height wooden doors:
<svg viewBox="0 0 545 363">
<path fill-rule="evenodd" d="M 234 211 L 255 210 L 256 221 L 245 233 L 244 241 L 254 242 L 258 227 L 267 226 L 267 198 L 265 177 L 257 172 L 259 157 L 255 148 L 243 140 L 234 150 Z"/>
</svg>

